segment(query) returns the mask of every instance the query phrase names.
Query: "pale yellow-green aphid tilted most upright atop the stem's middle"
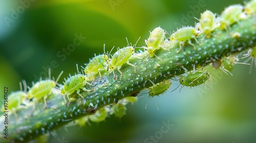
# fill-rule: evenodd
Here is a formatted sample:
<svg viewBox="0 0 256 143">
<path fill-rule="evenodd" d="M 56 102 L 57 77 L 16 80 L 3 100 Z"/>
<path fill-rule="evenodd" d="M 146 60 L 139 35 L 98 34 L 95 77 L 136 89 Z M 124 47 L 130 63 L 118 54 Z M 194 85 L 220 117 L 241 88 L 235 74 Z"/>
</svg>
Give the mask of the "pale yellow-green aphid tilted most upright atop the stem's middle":
<svg viewBox="0 0 256 143">
<path fill-rule="evenodd" d="M 147 47 L 143 46 L 143 48 L 147 50 L 148 55 L 151 58 L 155 55 L 156 50 L 158 50 L 160 48 L 167 50 L 162 46 L 164 39 L 165 39 L 165 32 L 160 27 L 157 27 L 152 32 L 150 32 L 150 36 L 148 37 L 147 40 L 145 40 Z M 161 59 L 159 59 L 159 60 L 161 60 Z"/>
</svg>

